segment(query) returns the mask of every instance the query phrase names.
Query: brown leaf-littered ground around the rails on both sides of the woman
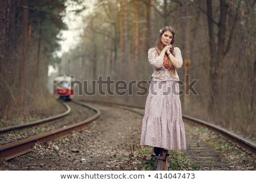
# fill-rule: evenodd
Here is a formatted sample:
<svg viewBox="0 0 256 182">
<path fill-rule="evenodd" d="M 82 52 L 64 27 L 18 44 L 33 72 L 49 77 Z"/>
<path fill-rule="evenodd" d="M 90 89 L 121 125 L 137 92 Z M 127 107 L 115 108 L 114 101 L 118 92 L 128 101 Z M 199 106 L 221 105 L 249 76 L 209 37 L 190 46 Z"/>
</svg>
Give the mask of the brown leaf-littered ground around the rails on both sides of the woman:
<svg viewBox="0 0 256 182">
<path fill-rule="evenodd" d="M 139 145 L 142 115 L 117 107 L 90 104 L 101 110 L 100 118 L 89 127 L 73 132 L 65 138 L 46 144 L 36 143 L 30 152 L 0 163 L 1 170 L 154 170 L 156 157 L 152 147 Z M 68 119 L 88 117 L 88 112 L 77 108 Z M 255 158 L 229 143 L 220 135 L 203 127 L 189 125 L 184 121 L 186 135 L 193 135 L 230 164 L 225 170 L 255 170 Z M 188 137 L 189 138 L 189 137 Z M 185 151 L 170 151 L 171 170 L 223 170 L 223 168 L 199 167 Z M 170 165 L 171 164 L 171 165 Z"/>
</svg>

